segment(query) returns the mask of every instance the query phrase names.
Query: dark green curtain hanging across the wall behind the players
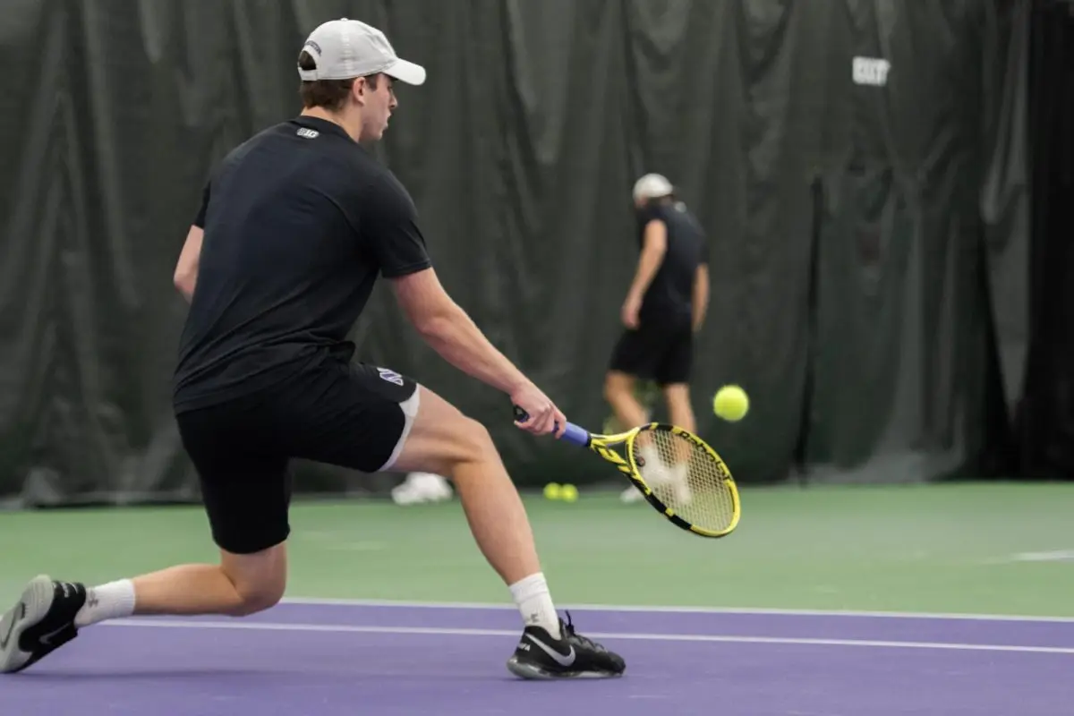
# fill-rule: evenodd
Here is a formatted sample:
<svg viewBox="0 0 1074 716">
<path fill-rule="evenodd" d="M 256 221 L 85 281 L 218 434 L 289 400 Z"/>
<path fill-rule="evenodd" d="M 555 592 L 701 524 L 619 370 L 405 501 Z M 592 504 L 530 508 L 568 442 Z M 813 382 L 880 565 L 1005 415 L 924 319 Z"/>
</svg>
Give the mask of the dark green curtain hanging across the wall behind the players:
<svg viewBox="0 0 1074 716">
<path fill-rule="evenodd" d="M 998 0 L 12 0 L 0 24 L 0 499 L 197 499 L 170 378 L 172 269 L 204 178 L 294 114 L 333 17 L 429 83 L 376 151 L 441 279 L 575 422 L 636 262 L 630 187 L 710 232 L 702 435 L 743 482 L 978 470 L 1022 391 L 1030 13 Z M 363 360 L 483 421 L 520 483 L 614 480 L 511 425 L 381 287 Z M 736 425 L 709 408 L 739 382 Z M 303 491 L 388 476 L 299 465 Z"/>
</svg>

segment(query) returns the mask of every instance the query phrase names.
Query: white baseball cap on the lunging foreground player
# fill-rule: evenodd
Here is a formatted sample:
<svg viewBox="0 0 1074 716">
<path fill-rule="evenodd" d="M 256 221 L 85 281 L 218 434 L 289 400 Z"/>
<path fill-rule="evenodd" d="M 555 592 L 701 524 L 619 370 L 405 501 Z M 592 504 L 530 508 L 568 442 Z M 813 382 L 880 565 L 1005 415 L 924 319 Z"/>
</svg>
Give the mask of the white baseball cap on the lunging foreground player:
<svg viewBox="0 0 1074 716">
<path fill-rule="evenodd" d="M 299 68 L 304 81 L 350 79 L 382 72 L 408 85 L 425 82 L 425 68 L 401 60 L 384 33 L 360 20 L 340 17 L 317 27 L 302 46 L 317 69 Z"/>
</svg>

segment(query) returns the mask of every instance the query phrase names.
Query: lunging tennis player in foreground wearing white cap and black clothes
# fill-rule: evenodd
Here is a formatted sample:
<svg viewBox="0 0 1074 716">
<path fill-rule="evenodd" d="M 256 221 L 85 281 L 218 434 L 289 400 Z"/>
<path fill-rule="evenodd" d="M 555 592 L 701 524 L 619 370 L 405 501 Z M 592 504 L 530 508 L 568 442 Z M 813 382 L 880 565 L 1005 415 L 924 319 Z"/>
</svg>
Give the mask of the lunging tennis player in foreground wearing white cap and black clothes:
<svg viewBox="0 0 1074 716">
<path fill-rule="evenodd" d="M 343 18 L 313 31 L 299 75 L 303 112 L 223 160 L 175 272 L 190 311 L 173 403 L 220 562 L 88 589 L 39 576 L 0 620 L 0 671 L 20 671 L 105 619 L 244 616 L 276 604 L 287 581 L 288 464 L 297 457 L 450 477 L 522 617 L 508 669 L 524 678 L 622 674 L 620 656 L 560 619 L 485 428 L 398 372 L 350 360 L 346 335 L 381 274 L 441 356 L 503 391 L 508 410 L 528 412 L 519 427 L 560 437 L 566 425 L 441 288 L 409 194 L 359 144 L 388 127 L 394 84 L 421 85 L 425 70 L 400 59 L 379 30 Z"/>
</svg>

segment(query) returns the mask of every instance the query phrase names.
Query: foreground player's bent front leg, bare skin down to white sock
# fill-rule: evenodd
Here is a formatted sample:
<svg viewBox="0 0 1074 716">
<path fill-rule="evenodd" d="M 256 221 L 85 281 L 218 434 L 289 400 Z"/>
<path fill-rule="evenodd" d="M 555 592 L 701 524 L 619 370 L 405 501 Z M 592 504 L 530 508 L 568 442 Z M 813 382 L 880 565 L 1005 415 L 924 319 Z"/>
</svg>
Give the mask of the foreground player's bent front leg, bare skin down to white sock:
<svg viewBox="0 0 1074 716">
<path fill-rule="evenodd" d="M 510 588 L 523 619 L 558 635 L 529 518 L 489 432 L 432 391 L 418 391 L 410 433 L 383 469 L 449 476 L 481 554 Z"/>
</svg>

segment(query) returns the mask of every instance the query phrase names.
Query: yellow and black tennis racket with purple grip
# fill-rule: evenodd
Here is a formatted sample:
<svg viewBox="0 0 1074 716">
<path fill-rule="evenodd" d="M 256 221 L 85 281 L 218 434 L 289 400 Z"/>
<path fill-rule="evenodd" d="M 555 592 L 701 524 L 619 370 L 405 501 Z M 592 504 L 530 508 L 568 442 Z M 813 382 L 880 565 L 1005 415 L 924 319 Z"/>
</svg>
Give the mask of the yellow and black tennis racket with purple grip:
<svg viewBox="0 0 1074 716">
<path fill-rule="evenodd" d="M 528 415 L 514 406 L 514 418 L 525 422 Z M 619 468 L 657 512 L 682 529 L 725 537 L 738 526 L 741 508 L 730 470 L 715 450 L 681 427 L 648 423 L 616 435 L 596 435 L 567 423 L 562 439 L 589 448 Z"/>
</svg>

